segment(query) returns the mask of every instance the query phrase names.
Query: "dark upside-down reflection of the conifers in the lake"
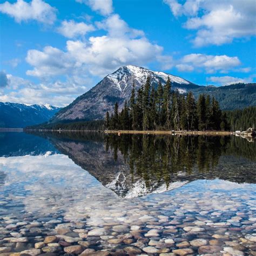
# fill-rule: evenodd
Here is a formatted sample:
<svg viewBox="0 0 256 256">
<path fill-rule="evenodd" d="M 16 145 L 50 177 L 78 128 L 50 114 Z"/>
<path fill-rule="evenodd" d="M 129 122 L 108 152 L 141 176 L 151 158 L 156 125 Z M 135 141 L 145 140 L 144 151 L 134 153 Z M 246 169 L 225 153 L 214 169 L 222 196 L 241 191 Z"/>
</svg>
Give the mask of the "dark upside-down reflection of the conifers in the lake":
<svg viewBox="0 0 256 256">
<path fill-rule="evenodd" d="M 235 155 L 255 159 L 255 145 L 235 137 L 210 136 L 152 136 L 151 134 L 107 134 L 106 149 L 114 158 L 120 151 L 129 164 L 131 173 L 145 180 L 170 181 L 187 179 L 196 167 L 206 177 L 219 163 L 221 155 Z M 208 176 L 207 176 L 208 177 Z M 214 174 L 212 174 L 214 177 Z M 218 177 L 218 176 L 217 176 Z"/>
</svg>

